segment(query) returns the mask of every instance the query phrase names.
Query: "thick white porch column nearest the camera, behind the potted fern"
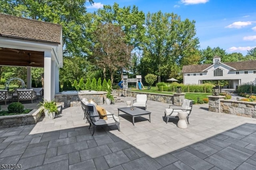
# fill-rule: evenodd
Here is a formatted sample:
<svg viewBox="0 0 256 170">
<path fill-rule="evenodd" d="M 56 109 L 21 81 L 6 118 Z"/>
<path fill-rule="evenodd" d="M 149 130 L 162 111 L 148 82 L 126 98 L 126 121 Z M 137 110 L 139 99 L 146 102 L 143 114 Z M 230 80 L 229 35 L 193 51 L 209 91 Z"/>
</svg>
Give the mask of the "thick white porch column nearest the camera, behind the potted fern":
<svg viewBox="0 0 256 170">
<path fill-rule="evenodd" d="M 52 84 L 52 59 L 51 51 L 44 51 L 44 99 L 52 100 L 51 84 Z"/>
</svg>

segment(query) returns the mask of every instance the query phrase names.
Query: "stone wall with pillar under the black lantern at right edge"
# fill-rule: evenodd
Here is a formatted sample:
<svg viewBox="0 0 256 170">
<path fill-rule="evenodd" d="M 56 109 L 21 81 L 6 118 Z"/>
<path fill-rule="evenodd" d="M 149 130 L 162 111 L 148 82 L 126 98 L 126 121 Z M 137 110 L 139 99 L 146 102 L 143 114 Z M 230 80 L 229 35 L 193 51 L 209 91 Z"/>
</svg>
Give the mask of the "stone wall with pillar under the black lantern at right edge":
<svg viewBox="0 0 256 170">
<path fill-rule="evenodd" d="M 208 96 L 209 111 L 256 118 L 256 103 L 224 100 L 224 96 Z"/>
</svg>

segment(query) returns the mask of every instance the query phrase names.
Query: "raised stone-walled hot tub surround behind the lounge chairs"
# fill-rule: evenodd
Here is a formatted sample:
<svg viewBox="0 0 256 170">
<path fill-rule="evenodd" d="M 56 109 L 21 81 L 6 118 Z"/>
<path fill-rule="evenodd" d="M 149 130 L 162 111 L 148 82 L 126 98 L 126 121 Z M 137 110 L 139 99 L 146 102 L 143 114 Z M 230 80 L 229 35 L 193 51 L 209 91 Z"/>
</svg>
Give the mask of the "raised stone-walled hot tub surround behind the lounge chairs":
<svg viewBox="0 0 256 170">
<path fill-rule="evenodd" d="M 78 90 L 78 91 L 62 91 L 55 95 L 55 101 L 61 104 L 62 107 L 75 107 L 80 106 L 82 99 L 93 99 L 95 103 L 100 105 L 104 104 L 104 98 L 106 98 L 106 91 L 89 91 L 89 90 Z"/>
</svg>

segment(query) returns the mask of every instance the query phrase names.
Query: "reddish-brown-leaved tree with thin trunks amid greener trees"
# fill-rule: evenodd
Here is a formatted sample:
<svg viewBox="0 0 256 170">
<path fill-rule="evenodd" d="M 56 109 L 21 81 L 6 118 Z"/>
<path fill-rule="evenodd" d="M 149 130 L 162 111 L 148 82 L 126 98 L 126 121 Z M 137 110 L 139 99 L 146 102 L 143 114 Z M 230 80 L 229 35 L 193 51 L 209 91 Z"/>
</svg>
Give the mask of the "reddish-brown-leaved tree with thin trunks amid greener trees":
<svg viewBox="0 0 256 170">
<path fill-rule="evenodd" d="M 126 67 L 130 62 L 133 46 L 125 42 L 125 34 L 121 28 L 111 23 L 98 24 L 93 42 L 92 60 L 103 68 L 104 79 L 106 69 L 109 71 L 111 83 L 113 83 L 114 72 Z"/>
</svg>

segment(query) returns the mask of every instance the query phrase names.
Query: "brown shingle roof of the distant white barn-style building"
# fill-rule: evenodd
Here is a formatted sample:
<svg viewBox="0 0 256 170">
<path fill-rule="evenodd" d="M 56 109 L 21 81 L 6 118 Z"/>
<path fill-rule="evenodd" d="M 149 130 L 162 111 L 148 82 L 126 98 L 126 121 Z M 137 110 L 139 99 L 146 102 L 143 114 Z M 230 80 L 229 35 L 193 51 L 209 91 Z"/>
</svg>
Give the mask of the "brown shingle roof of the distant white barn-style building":
<svg viewBox="0 0 256 170">
<path fill-rule="evenodd" d="M 233 67 L 236 70 L 256 70 L 256 60 L 226 62 L 224 64 Z M 202 72 L 211 65 L 212 64 L 184 65 L 182 68 L 182 73 Z"/>
</svg>

